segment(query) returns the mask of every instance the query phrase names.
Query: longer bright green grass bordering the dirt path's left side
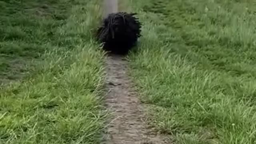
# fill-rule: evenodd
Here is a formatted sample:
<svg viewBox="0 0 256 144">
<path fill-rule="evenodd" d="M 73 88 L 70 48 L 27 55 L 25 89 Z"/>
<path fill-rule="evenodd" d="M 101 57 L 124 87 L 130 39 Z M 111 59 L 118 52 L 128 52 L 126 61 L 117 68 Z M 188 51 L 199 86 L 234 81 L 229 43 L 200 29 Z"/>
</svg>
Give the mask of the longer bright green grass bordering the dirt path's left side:
<svg viewBox="0 0 256 144">
<path fill-rule="evenodd" d="M 11 4 L 9 1 L 1 2 Z M 23 1 L 23 4 L 28 2 L 29 0 Z M 35 4 L 41 4 L 41 1 L 36 2 L 33 1 Z M 56 21 L 41 17 L 42 19 L 38 20 L 28 19 L 32 20 L 29 29 L 35 34 L 30 37 L 31 39 L 23 40 L 25 39 L 23 35 L 26 36 L 27 33 L 16 36 L 17 40 L 7 39 L 7 33 L 1 35 L 1 44 L 17 45 L 17 50 L 1 46 L 1 54 L 22 58 L 23 54 L 24 57 L 40 54 L 38 58 L 30 57 L 31 60 L 37 61 L 36 66 L 30 67 L 30 75 L 0 89 L 1 144 L 100 143 L 100 132 L 106 115 L 101 106 L 100 96 L 104 79 L 104 57 L 103 53 L 97 50 L 99 46 L 93 38 L 93 31 L 101 17 L 100 2 L 97 0 L 51 2 L 56 4 L 53 4 L 53 9 L 63 8 L 58 4 L 67 2 L 63 6 L 68 8 L 66 10 L 68 16 L 56 28 L 51 29 Z M 29 13 L 27 14 L 29 16 Z M 58 13 L 60 14 L 64 13 Z M 8 18 L 7 15 L 5 20 L 16 22 L 15 18 L 22 19 Z M 34 22 L 38 27 L 34 26 Z M 51 25 L 49 28 L 43 26 L 48 23 Z M 22 24 L 17 24 L 17 30 L 21 33 L 24 32 Z M 43 31 L 41 28 L 46 30 Z M 1 30 L 8 29 L 1 26 Z M 53 30 L 51 38 L 41 35 L 51 30 Z M 37 31 L 39 32 L 34 33 Z M 12 34 L 18 33 L 12 31 Z M 26 49 L 27 47 L 22 49 L 22 44 L 31 44 L 31 48 L 35 51 Z M 38 48 L 34 46 L 42 47 L 42 52 L 39 53 Z M 45 49 L 45 46 L 49 46 L 48 49 Z M 14 52 L 10 54 L 7 48 Z M 25 50 L 28 54 L 24 52 Z"/>
</svg>

